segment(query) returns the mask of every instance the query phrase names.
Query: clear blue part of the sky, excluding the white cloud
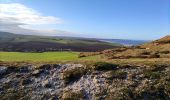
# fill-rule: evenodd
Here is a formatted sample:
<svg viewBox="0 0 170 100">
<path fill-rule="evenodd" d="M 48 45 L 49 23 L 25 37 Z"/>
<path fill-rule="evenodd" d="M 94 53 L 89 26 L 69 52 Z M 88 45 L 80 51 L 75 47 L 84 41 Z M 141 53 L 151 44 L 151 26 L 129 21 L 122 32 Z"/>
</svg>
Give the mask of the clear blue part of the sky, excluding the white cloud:
<svg viewBox="0 0 170 100">
<path fill-rule="evenodd" d="M 170 0 L 0 0 L 0 3 L 22 4 L 40 13 L 39 16 L 55 17 L 60 20 L 58 23 L 26 27 L 61 30 L 64 35 L 68 32 L 82 37 L 151 40 L 170 34 Z"/>
</svg>

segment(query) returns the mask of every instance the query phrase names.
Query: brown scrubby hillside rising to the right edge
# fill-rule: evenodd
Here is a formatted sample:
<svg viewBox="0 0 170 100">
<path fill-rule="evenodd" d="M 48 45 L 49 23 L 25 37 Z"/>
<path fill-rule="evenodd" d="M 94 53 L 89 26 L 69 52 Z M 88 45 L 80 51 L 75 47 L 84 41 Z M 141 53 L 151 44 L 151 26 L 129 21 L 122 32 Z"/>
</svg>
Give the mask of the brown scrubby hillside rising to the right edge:
<svg viewBox="0 0 170 100">
<path fill-rule="evenodd" d="M 104 50 L 98 53 L 81 53 L 80 57 L 101 55 L 108 59 L 170 58 L 170 36 L 138 46 Z"/>
</svg>

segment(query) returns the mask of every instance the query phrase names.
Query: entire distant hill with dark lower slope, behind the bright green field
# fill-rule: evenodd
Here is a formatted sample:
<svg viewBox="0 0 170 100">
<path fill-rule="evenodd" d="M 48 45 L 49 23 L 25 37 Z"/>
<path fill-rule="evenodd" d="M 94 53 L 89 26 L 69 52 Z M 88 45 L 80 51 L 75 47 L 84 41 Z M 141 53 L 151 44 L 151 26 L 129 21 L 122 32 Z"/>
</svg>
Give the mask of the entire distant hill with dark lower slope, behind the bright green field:
<svg viewBox="0 0 170 100">
<path fill-rule="evenodd" d="M 120 47 L 120 44 L 97 39 L 20 35 L 0 32 L 1 51 L 101 51 Z"/>
</svg>

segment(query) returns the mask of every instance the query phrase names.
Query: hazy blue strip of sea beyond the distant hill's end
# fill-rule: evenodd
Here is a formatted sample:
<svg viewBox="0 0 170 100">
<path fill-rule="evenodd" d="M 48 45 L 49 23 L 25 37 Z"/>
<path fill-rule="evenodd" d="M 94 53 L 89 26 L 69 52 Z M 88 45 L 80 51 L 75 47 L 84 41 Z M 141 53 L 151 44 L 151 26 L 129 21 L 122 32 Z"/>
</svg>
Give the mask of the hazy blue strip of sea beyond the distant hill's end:
<svg viewBox="0 0 170 100">
<path fill-rule="evenodd" d="M 128 40 L 128 39 L 101 39 L 104 42 L 118 43 L 125 46 L 135 46 L 150 42 L 150 40 Z"/>
</svg>

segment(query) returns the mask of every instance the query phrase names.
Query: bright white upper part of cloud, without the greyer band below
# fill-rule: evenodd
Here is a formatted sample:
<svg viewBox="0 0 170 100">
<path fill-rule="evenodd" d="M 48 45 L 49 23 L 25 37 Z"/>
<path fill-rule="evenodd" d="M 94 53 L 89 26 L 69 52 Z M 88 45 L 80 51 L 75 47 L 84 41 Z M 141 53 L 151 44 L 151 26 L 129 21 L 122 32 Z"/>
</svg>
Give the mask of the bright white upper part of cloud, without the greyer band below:
<svg viewBox="0 0 170 100">
<path fill-rule="evenodd" d="M 42 16 L 39 12 L 19 3 L 0 4 L 0 22 L 8 24 L 58 24 L 61 19 Z"/>
</svg>

